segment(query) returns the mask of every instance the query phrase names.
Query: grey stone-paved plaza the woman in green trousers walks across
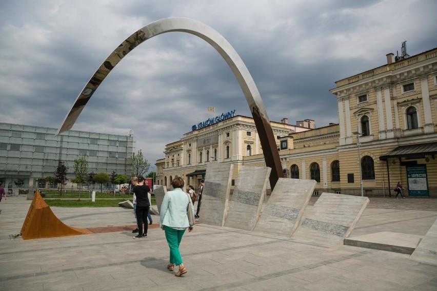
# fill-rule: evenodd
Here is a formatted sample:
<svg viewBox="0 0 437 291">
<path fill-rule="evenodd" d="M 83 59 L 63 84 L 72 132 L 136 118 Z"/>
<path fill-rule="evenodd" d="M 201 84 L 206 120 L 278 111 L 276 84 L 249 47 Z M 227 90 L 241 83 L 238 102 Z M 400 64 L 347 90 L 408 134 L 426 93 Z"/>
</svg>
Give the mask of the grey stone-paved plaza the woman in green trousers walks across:
<svg viewBox="0 0 437 291">
<path fill-rule="evenodd" d="M 424 236 L 437 219 L 437 199 L 369 198 L 351 237 Z M 177 268 L 166 268 L 169 250 L 157 216 L 148 238 L 134 240 L 132 210 L 52 207 L 67 225 L 102 232 L 11 239 L 21 230 L 30 202 L 8 197 L 0 203 L 0 290 L 437 290 L 437 266 L 406 254 L 202 223 L 184 235 L 181 252 L 188 273 L 177 278 Z"/>
</svg>

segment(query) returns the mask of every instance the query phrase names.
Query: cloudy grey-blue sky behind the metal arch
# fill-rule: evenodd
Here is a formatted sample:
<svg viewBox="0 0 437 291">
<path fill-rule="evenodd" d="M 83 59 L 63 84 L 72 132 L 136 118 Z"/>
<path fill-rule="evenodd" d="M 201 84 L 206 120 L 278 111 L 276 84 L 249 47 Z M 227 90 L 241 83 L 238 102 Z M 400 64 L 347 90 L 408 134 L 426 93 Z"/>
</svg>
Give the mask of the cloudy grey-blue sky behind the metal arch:
<svg viewBox="0 0 437 291">
<path fill-rule="evenodd" d="M 0 122 L 59 128 L 105 58 L 155 20 L 189 17 L 222 34 L 251 73 L 270 120 L 338 122 L 334 82 L 386 64 L 407 40 L 437 47 L 435 0 L 4 1 Z M 215 107 L 215 114 L 207 111 Z M 153 164 L 167 143 L 208 117 L 251 116 L 238 82 L 204 40 L 183 32 L 130 52 L 94 93 L 73 130 L 127 135 Z"/>
</svg>

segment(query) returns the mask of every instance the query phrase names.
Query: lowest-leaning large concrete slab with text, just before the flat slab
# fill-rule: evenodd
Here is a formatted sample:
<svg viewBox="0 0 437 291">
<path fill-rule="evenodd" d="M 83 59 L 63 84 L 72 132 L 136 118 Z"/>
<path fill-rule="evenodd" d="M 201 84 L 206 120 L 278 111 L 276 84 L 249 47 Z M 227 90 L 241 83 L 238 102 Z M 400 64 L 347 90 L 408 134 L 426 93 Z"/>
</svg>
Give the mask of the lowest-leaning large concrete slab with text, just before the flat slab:
<svg viewBox="0 0 437 291">
<path fill-rule="evenodd" d="M 292 238 L 323 244 L 343 244 L 360 219 L 369 198 L 322 193 Z"/>
</svg>

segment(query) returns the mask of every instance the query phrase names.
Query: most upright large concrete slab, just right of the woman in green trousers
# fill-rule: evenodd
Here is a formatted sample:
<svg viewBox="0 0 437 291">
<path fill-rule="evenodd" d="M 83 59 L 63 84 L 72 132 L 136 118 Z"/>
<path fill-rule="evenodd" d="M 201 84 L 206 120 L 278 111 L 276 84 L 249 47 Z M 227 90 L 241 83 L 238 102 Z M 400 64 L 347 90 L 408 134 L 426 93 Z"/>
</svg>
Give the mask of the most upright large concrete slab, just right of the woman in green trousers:
<svg viewBox="0 0 437 291">
<path fill-rule="evenodd" d="M 233 164 L 208 163 L 202 193 L 202 223 L 223 226 L 228 211 Z"/>
</svg>

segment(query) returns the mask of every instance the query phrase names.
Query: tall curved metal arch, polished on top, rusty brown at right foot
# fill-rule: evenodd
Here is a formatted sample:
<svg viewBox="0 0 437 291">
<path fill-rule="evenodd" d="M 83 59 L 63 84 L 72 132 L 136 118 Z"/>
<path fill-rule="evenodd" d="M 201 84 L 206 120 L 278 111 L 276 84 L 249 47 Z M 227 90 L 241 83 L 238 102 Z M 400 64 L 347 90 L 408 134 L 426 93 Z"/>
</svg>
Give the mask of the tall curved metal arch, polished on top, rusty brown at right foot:
<svg viewBox="0 0 437 291">
<path fill-rule="evenodd" d="M 73 106 L 61 124 L 61 127 L 58 129 L 57 134 L 73 127 L 74 122 L 81 114 L 92 94 L 125 55 L 145 40 L 162 33 L 173 31 L 187 32 L 204 39 L 218 53 L 220 53 L 234 73 L 241 89 L 243 90 L 244 96 L 246 97 L 250 111 L 252 112 L 256 129 L 260 135 L 266 165 L 267 167 L 272 168 L 270 173 L 270 185 L 273 189 L 274 185 L 276 185 L 277 179 L 283 176 L 281 159 L 276 148 L 275 137 L 270 126 L 264 103 L 255 86 L 255 82 L 247 70 L 246 65 L 243 63 L 243 60 L 228 41 L 211 27 L 194 19 L 183 17 L 164 18 L 152 22 L 130 35 L 106 58 L 103 64 L 90 78 L 85 88 L 77 96 Z"/>
</svg>

